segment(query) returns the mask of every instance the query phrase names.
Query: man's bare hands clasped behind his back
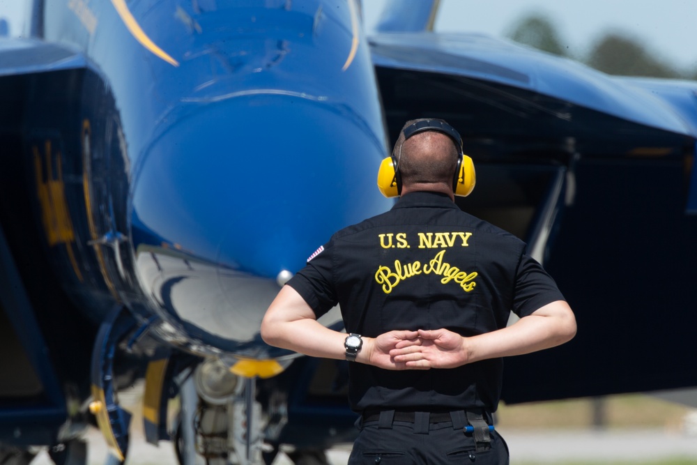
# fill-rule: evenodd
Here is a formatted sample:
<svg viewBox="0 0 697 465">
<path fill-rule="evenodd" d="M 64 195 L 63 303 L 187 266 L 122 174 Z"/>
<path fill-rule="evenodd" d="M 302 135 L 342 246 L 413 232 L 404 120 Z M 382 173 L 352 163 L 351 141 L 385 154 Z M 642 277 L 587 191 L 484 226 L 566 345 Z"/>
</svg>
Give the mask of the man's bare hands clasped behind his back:
<svg viewBox="0 0 697 465">
<path fill-rule="evenodd" d="M 364 347 L 370 365 L 385 369 L 454 368 L 468 360 L 467 338 L 450 330 L 394 330 Z"/>
</svg>

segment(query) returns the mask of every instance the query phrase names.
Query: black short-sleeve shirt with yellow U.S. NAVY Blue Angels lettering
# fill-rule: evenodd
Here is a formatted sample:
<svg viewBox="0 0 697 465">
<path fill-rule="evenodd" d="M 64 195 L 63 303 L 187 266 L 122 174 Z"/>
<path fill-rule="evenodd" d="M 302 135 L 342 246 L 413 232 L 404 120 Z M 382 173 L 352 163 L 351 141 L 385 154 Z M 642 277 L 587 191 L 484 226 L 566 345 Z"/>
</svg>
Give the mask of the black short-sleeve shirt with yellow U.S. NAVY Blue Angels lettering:
<svg viewBox="0 0 697 465">
<path fill-rule="evenodd" d="M 317 317 L 339 304 L 348 333 L 447 328 L 473 336 L 563 300 L 526 245 L 461 211 L 446 195 L 412 192 L 388 212 L 338 231 L 288 283 Z M 495 411 L 503 360 L 390 371 L 349 364 L 355 411 L 484 407 Z"/>
</svg>

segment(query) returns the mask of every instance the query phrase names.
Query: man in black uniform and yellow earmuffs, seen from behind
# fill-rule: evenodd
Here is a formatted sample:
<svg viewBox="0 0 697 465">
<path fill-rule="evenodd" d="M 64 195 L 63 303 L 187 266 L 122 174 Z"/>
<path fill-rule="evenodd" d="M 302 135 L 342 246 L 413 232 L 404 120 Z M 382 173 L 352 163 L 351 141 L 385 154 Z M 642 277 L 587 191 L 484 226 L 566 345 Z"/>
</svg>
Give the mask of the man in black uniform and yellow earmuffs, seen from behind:
<svg viewBox="0 0 697 465">
<path fill-rule="evenodd" d="M 454 204 L 474 167 L 445 121 L 408 121 L 378 185 L 401 195 L 395 206 L 320 247 L 270 305 L 261 336 L 351 362 L 348 400 L 361 418 L 349 464 L 507 464 L 491 418 L 502 357 L 571 340 L 574 314 L 522 241 Z M 348 336 L 316 321 L 337 303 Z M 511 310 L 521 319 L 507 327 Z"/>
</svg>

